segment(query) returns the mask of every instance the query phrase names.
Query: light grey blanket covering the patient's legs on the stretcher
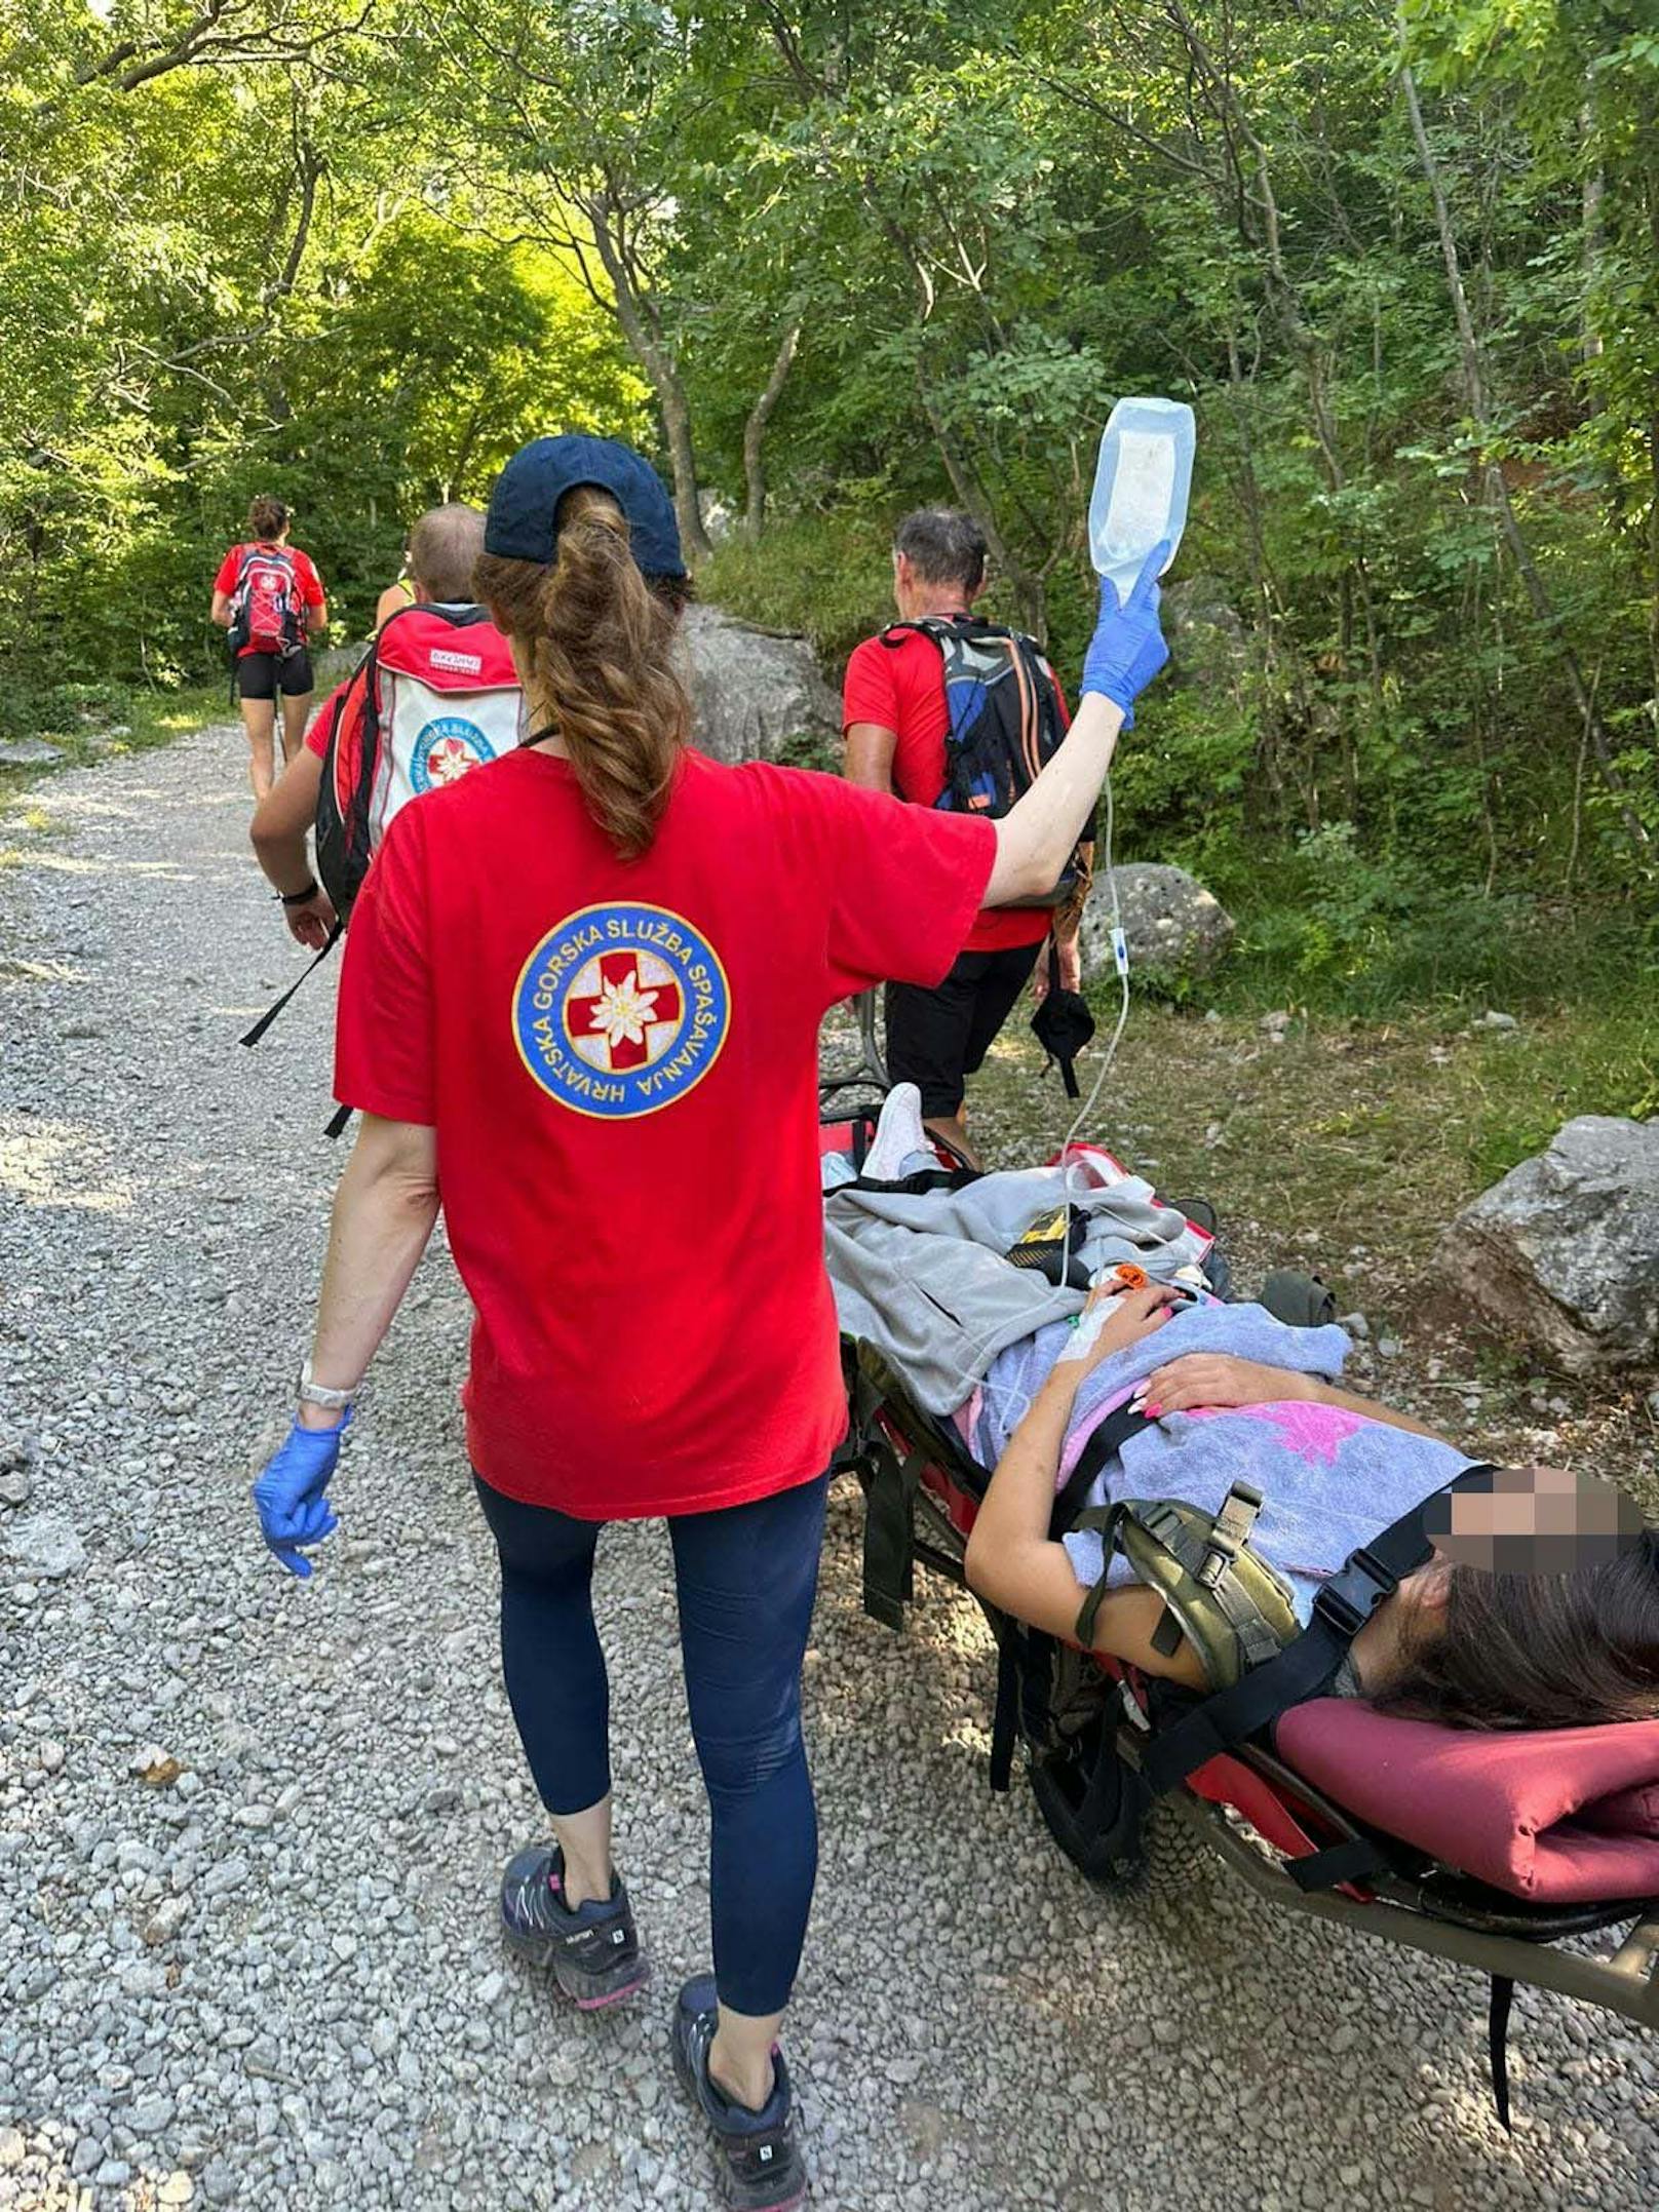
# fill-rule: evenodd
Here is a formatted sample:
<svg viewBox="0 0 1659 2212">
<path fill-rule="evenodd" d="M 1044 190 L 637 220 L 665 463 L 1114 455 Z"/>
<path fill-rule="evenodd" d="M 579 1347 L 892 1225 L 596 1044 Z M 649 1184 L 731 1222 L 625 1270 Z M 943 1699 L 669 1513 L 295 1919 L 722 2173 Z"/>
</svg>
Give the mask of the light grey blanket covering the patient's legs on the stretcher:
<svg viewBox="0 0 1659 2212">
<path fill-rule="evenodd" d="M 1130 1175 L 1091 1190 L 1082 1168 L 1068 1172 L 1088 1274 L 1133 1261 L 1168 1283 L 1203 1259 L 1206 1239 L 1157 1206 L 1150 1183 Z M 1064 1197 L 1060 1168 L 982 1175 L 960 1190 L 832 1190 L 823 1248 L 843 1334 L 876 1345 L 929 1413 L 951 1413 L 998 1352 L 1082 1312 L 1084 1292 L 1002 1256 Z"/>
</svg>

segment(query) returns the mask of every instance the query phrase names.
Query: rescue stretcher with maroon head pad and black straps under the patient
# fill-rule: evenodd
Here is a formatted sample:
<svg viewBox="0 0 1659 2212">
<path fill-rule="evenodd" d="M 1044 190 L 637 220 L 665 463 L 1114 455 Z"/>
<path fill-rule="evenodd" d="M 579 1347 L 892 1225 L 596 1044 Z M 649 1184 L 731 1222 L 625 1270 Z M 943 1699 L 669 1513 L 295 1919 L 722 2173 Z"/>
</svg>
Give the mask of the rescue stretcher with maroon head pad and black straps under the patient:
<svg viewBox="0 0 1659 2212">
<path fill-rule="evenodd" d="M 832 1097 L 825 1144 L 856 1115 Z M 1296 1283 L 1274 1279 L 1281 1318 L 1327 1318 Z M 989 1469 L 872 1345 L 843 1338 L 843 1369 L 838 1464 L 865 1493 L 865 1610 L 898 1630 L 918 1568 L 964 1586 Z M 1055 1535 L 1119 1442 L 1102 1425 Z M 1659 2026 L 1659 1721 L 1471 1732 L 1325 1697 L 1170 1778 L 1159 1745 L 1203 1705 L 1197 1692 L 984 1613 L 1000 1652 L 991 1785 L 1009 1787 L 1024 1750 L 1042 1820 L 1088 1880 L 1141 1878 L 1161 1803 L 1261 1900 L 1478 1969 L 1504 2126 L 1515 1984 Z"/>
</svg>

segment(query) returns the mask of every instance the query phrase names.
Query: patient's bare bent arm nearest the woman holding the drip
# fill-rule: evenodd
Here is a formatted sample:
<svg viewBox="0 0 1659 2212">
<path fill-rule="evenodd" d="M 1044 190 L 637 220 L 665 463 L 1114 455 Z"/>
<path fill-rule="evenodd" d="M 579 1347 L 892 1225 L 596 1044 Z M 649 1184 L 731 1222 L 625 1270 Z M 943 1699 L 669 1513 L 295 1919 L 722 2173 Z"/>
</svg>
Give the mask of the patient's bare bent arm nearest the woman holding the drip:
<svg viewBox="0 0 1659 2212">
<path fill-rule="evenodd" d="M 1161 1285 L 1124 1298 L 1099 1334 L 1093 1358 L 1057 1360 L 1031 1409 L 1006 1442 L 984 1493 L 967 1548 L 969 1588 L 1020 1621 L 1053 1637 L 1073 1637 L 1084 1593 L 1066 1546 L 1048 1537 L 1055 1475 L 1066 1425 L 1084 1376 L 1110 1352 L 1137 1343 L 1168 1321 Z M 1164 1601 L 1155 1590 L 1110 1590 L 1095 1626 L 1095 1650 L 1133 1659 L 1148 1674 L 1170 1674 L 1203 1688 L 1197 1657 L 1183 1644 L 1172 1659 L 1152 1650 Z"/>
</svg>

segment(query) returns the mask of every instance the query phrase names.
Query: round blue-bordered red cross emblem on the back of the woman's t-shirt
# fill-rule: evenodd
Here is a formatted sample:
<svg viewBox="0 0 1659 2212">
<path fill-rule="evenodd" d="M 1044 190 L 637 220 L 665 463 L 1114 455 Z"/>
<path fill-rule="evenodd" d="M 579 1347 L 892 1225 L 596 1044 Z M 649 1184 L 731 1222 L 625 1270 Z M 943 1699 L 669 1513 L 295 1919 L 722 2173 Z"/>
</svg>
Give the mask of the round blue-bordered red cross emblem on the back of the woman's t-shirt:
<svg viewBox="0 0 1659 2212">
<path fill-rule="evenodd" d="M 695 1091 L 721 1055 L 730 1015 L 714 947 L 664 907 L 566 914 L 513 991 L 513 1033 L 535 1082 L 608 1121 Z"/>
</svg>

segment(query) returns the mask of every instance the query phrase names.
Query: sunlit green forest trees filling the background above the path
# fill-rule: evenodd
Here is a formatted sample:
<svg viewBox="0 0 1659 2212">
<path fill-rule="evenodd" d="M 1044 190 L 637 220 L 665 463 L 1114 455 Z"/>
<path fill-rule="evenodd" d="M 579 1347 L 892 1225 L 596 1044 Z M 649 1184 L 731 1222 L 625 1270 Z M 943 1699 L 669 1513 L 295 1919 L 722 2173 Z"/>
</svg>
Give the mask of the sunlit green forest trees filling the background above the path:
<svg viewBox="0 0 1659 2212">
<path fill-rule="evenodd" d="M 542 429 L 644 442 L 701 586 L 834 661 L 971 507 L 1075 670 L 1115 396 L 1199 409 L 1228 679 L 1133 834 L 1340 945 L 1650 902 L 1659 29 L 1639 0 L 0 0 L 0 661 L 217 666 L 276 491 L 345 635 Z M 1323 905 L 1321 905 L 1323 902 Z M 1316 958 L 1318 947 L 1307 949 Z"/>
</svg>

